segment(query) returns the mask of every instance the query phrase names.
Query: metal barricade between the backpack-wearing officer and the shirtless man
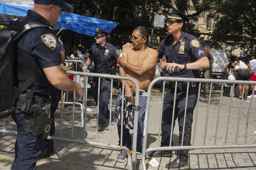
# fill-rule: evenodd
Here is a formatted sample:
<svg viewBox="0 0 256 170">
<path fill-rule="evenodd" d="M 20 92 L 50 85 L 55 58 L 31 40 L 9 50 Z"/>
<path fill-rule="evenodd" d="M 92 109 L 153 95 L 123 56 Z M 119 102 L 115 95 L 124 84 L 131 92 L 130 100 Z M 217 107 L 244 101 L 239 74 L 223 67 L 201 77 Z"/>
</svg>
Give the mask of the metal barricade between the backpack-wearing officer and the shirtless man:
<svg viewBox="0 0 256 170">
<path fill-rule="evenodd" d="M 78 71 L 67 71 L 67 74 L 73 74 L 73 75 L 82 75 L 82 76 L 86 76 L 84 84 L 85 84 L 85 88 L 84 88 L 84 100 L 85 100 L 85 104 L 83 104 L 84 108 L 87 107 L 87 92 L 88 92 L 88 76 L 89 77 L 97 77 L 98 78 L 98 99 L 100 99 L 100 78 L 108 78 L 111 80 L 111 91 L 110 91 L 110 113 L 111 113 L 111 108 L 112 108 L 112 89 L 113 89 L 113 79 L 122 79 L 122 80 L 129 80 L 131 81 L 136 88 L 136 94 L 135 94 L 135 106 L 139 106 L 139 95 L 140 95 L 140 90 L 139 90 L 139 85 L 138 83 L 130 77 L 124 77 L 124 76 L 116 76 L 116 75 L 109 75 L 109 74 L 100 74 L 100 73 L 89 73 L 89 72 L 78 72 Z M 124 96 L 124 81 L 123 81 L 123 89 L 122 89 L 122 94 Z M 74 94 L 75 95 L 75 94 Z M 124 103 L 124 98 L 122 98 L 122 103 Z M 100 104 L 100 100 L 98 100 L 97 103 L 97 117 L 99 117 L 99 104 Z M 122 105 L 122 115 L 123 115 L 123 105 Z M 110 134 L 111 134 L 111 121 L 109 121 L 109 136 L 108 136 L 108 144 L 105 143 L 99 143 L 98 142 L 98 119 L 97 119 L 97 124 L 96 124 L 96 140 L 95 142 L 92 141 L 86 141 L 85 140 L 85 130 L 86 130 L 86 109 L 84 111 L 84 139 L 83 140 L 72 140 L 68 139 L 68 138 L 60 138 L 60 137 L 48 137 L 49 139 L 53 139 L 53 140 L 59 140 L 59 141 L 65 141 L 65 142 L 75 142 L 75 143 L 81 143 L 81 144 L 88 144 L 88 145 L 93 145 L 93 146 L 104 146 L 104 147 L 109 147 L 109 148 L 114 148 L 114 149 L 123 149 L 126 150 L 128 153 L 128 163 L 127 163 L 127 167 L 128 169 L 135 169 L 136 166 L 136 154 L 133 154 L 134 156 L 131 157 L 131 151 L 129 151 L 128 148 L 124 147 L 124 146 L 118 146 L 118 145 L 113 145 L 110 144 Z M 111 114 L 109 117 L 109 120 L 111 120 Z M 122 116 L 122 122 L 123 122 L 123 116 Z M 122 123 L 123 124 L 123 123 Z M 136 152 L 136 144 L 137 144 L 137 131 L 138 131 L 138 110 L 135 110 L 134 113 L 134 129 L 133 129 L 133 141 L 132 141 L 132 151 Z M 123 126 L 121 126 L 121 144 L 122 144 L 122 140 L 123 140 Z"/>
</svg>

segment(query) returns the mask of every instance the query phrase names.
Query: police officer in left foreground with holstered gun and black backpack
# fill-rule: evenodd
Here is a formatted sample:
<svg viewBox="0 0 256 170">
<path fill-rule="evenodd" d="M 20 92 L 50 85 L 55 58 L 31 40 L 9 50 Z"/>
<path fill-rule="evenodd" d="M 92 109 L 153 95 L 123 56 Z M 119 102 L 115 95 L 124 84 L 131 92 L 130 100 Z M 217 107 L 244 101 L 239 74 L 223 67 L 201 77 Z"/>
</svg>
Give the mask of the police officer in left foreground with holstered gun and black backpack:
<svg viewBox="0 0 256 170">
<path fill-rule="evenodd" d="M 50 28 L 57 23 L 62 9 L 71 11 L 73 7 L 63 0 L 34 2 L 33 11 L 28 10 L 27 16 L 20 18 L 18 22 L 37 22 L 46 27 L 31 29 L 16 41 L 17 87 L 35 75 L 37 70 L 41 70 L 42 75 L 19 96 L 15 113 L 12 114 L 17 124 L 12 170 L 36 169 L 36 161 L 41 157 L 47 137 L 44 128 L 48 127 L 49 131 L 51 125 L 48 120 L 51 102 L 49 96 L 53 94 L 54 87 L 64 91 L 75 90 L 76 100 L 80 100 L 83 95 L 81 85 L 71 81 L 60 68 L 60 42 Z"/>
</svg>

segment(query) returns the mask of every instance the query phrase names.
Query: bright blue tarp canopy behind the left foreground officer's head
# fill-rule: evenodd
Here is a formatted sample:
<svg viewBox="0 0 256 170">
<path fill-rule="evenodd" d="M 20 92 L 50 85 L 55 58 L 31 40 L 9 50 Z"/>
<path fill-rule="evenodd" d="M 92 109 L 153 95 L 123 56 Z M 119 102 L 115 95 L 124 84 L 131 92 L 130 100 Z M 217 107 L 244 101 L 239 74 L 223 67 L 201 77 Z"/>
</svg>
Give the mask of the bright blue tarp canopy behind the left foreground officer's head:
<svg viewBox="0 0 256 170">
<path fill-rule="evenodd" d="M 31 7 L 0 4 L 0 14 L 9 14 L 15 16 L 26 16 L 28 10 L 33 10 Z M 63 28 L 69 29 L 77 33 L 82 33 L 89 36 L 94 36 L 95 29 L 100 27 L 110 33 L 119 23 L 106 21 L 97 18 L 85 17 L 82 15 L 72 14 L 61 11 L 58 23 L 54 25 L 54 29 Z"/>
</svg>

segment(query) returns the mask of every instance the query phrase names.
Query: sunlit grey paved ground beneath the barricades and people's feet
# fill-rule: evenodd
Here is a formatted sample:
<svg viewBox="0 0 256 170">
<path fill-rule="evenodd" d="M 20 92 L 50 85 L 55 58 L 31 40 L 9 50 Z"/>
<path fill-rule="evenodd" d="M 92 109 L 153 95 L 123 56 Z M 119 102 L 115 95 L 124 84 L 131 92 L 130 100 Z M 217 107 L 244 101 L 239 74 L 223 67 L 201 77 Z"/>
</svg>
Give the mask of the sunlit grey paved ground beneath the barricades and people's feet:
<svg viewBox="0 0 256 170">
<path fill-rule="evenodd" d="M 212 99 L 209 108 L 209 118 L 207 124 L 207 133 L 205 145 L 214 145 L 215 131 L 219 110 L 219 99 L 220 91 L 214 91 L 212 94 Z M 112 107 L 112 117 L 114 115 L 114 107 L 116 95 L 113 96 L 113 107 Z M 204 131 L 205 131 L 205 122 L 208 106 L 208 98 L 199 100 L 198 107 L 198 116 L 197 122 L 196 119 L 196 109 L 194 111 L 194 122 L 192 129 L 192 140 L 194 136 L 194 128 L 196 123 L 196 134 L 195 134 L 195 145 L 203 145 L 204 143 Z M 256 105 L 255 99 L 253 99 L 253 104 L 251 108 L 251 113 L 248 123 L 248 132 L 247 132 L 247 144 L 256 144 L 256 134 L 251 133 L 251 131 L 256 131 L 255 122 L 256 122 Z M 160 110 L 161 110 L 161 101 L 162 96 L 159 90 L 154 90 L 153 96 L 151 99 L 150 105 L 150 114 L 149 114 L 149 129 L 148 129 L 148 147 L 155 147 L 158 144 L 158 129 L 160 121 Z M 241 120 L 238 131 L 237 144 L 244 144 L 245 141 L 245 128 L 246 120 L 248 114 L 249 100 L 243 101 L 243 108 L 241 112 Z M 227 145 L 236 143 L 236 131 L 239 117 L 241 100 L 233 99 L 231 118 L 228 128 L 228 138 Z M 220 121 L 218 127 L 217 141 L 216 145 L 225 143 L 225 136 L 228 123 L 228 112 L 229 112 L 230 97 L 223 97 L 222 104 L 220 108 Z M 86 124 L 86 133 L 85 137 L 87 141 L 94 141 L 96 137 L 96 117 L 97 117 L 97 107 L 91 97 L 88 99 L 88 108 L 92 109 L 91 112 L 87 112 L 87 124 Z M 72 106 L 65 107 L 62 116 L 62 135 L 61 137 L 71 137 L 71 125 L 72 125 Z M 81 129 L 80 122 L 80 109 L 75 110 L 74 117 L 74 139 L 83 139 L 84 130 Z M 56 134 L 55 136 L 60 136 L 60 109 L 57 109 L 55 113 L 55 123 L 56 123 Z M 1 129 L 3 126 L 3 120 L 0 120 Z M 174 145 L 178 145 L 178 126 L 174 128 Z M 109 125 L 108 122 L 105 124 L 106 129 L 103 132 L 98 133 L 98 142 L 108 143 L 108 134 L 109 134 Z M 15 124 L 11 118 L 6 120 L 6 129 L 15 130 Z M 7 160 L 2 163 L 0 161 L 0 169 L 6 170 L 10 169 L 12 161 L 14 160 L 14 136 L 6 135 L 0 133 L 0 158 Z M 161 139 L 161 138 L 160 138 Z M 111 123 L 111 144 L 118 144 L 118 135 L 117 128 L 115 123 Z M 89 146 L 84 144 L 74 144 L 67 142 L 54 142 L 55 155 L 48 158 L 42 159 L 37 162 L 38 170 L 52 170 L 52 169 L 88 169 L 88 170 L 108 170 L 108 169 L 126 169 L 126 163 L 119 163 L 116 161 L 117 155 L 119 153 L 116 149 L 104 148 L 98 146 Z M 166 169 L 165 164 L 176 158 L 176 151 L 173 152 L 173 157 L 171 158 L 156 158 L 160 165 L 156 168 L 148 166 L 147 169 L 152 170 L 161 170 Z M 151 160 L 152 158 L 146 158 L 146 161 Z M 189 152 L 189 166 L 186 166 L 186 169 L 193 170 L 203 170 L 203 169 L 237 169 L 245 170 L 256 169 L 256 152 L 255 148 L 244 148 L 244 149 L 199 149 L 191 150 Z M 182 169 L 185 169 L 182 168 Z M 142 169 L 141 166 L 139 169 Z"/>
</svg>

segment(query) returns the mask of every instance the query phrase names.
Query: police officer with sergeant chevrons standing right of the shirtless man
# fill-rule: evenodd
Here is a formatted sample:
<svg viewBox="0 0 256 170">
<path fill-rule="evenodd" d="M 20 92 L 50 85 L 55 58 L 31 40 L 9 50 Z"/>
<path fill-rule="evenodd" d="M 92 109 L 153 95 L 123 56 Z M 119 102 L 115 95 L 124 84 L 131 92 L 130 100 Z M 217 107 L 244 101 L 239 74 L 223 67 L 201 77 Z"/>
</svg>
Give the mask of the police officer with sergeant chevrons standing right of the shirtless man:
<svg viewBox="0 0 256 170">
<path fill-rule="evenodd" d="M 156 49 L 158 51 L 158 57 L 163 55 L 166 57 L 165 64 L 166 70 L 173 71 L 167 73 L 167 77 L 183 77 L 183 78 L 199 78 L 199 69 L 209 67 L 209 60 L 204 52 L 200 41 L 193 35 L 182 32 L 182 26 L 184 21 L 189 21 L 189 18 L 182 12 L 171 9 L 167 18 L 167 31 L 170 33 Z M 175 72 L 174 68 L 177 67 L 181 70 L 180 73 Z M 179 83 L 179 82 L 178 82 Z M 174 83 L 170 82 L 169 90 L 164 97 L 163 103 L 163 116 L 162 116 L 162 140 L 161 146 L 170 145 L 171 123 L 172 123 L 172 110 L 174 101 Z M 186 92 L 187 85 L 180 82 L 182 88 L 177 88 L 176 93 L 176 106 L 174 113 L 174 124 L 178 118 L 179 123 L 179 143 L 183 142 L 183 146 L 190 145 L 191 129 L 193 121 L 193 111 L 196 106 L 198 84 L 190 83 L 188 91 L 188 105 L 185 127 L 183 127 L 184 108 L 186 104 Z M 182 129 L 184 131 L 184 140 L 182 138 Z M 173 142 L 172 142 L 173 144 Z M 149 152 L 149 156 L 152 157 L 171 157 L 172 151 L 154 151 Z M 169 164 L 166 164 L 166 168 L 179 168 L 187 165 L 188 163 L 188 150 L 178 150 L 177 158 Z"/>
</svg>

